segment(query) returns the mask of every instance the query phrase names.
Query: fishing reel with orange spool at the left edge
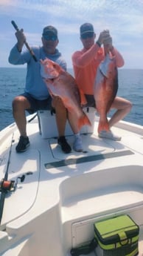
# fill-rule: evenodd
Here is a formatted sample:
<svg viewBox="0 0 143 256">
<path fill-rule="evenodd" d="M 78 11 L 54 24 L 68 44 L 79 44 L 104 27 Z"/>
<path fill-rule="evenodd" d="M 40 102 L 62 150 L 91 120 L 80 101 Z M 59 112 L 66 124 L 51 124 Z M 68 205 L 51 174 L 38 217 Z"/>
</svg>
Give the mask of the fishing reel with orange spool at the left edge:
<svg viewBox="0 0 143 256">
<path fill-rule="evenodd" d="M 7 193 L 8 191 L 15 191 L 15 188 L 17 187 L 18 180 L 20 180 L 21 183 L 25 180 L 25 174 L 23 174 L 21 177 L 17 177 L 16 180 L 0 180 L 0 192 Z"/>
</svg>

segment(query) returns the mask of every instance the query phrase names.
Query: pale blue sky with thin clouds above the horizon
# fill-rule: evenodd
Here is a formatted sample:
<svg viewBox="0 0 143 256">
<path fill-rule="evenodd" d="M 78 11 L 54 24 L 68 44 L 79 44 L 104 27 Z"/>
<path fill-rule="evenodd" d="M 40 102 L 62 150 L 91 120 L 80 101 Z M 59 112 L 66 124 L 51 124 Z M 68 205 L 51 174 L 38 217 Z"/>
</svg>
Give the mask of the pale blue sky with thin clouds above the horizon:
<svg viewBox="0 0 143 256">
<path fill-rule="evenodd" d="M 43 27 L 52 24 L 59 33 L 58 50 L 71 68 L 71 54 L 80 50 L 79 28 L 94 24 L 97 37 L 110 30 L 114 46 L 125 59 L 124 68 L 143 68 L 143 0 L 0 0 L 0 67 L 15 45 L 14 20 L 24 28 L 29 45 L 41 45 Z"/>
</svg>

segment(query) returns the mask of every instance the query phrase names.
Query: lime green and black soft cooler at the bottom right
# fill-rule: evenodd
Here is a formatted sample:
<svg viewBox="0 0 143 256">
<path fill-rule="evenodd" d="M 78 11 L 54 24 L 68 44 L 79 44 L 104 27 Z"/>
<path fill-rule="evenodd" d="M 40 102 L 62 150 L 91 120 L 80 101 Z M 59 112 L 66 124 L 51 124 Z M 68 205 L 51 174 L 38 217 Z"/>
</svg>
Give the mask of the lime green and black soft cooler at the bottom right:
<svg viewBox="0 0 143 256">
<path fill-rule="evenodd" d="M 128 215 L 94 223 L 94 234 L 97 256 L 139 255 L 139 226 Z"/>
</svg>

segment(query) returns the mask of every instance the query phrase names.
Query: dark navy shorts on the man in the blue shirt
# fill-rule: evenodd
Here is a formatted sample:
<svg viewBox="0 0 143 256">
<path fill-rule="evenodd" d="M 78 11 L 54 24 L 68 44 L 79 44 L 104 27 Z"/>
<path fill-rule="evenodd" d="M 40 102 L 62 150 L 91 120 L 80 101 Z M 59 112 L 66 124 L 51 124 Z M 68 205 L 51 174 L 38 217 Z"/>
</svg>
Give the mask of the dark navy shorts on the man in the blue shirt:
<svg viewBox="0 0 143 256">
<path fill-rule="evenodd" d="M 27 109 L 29 114 L 33 114 L 36 111 L 40 110 L 52 110 L 52 97 L 49 96 L 47 99 L 39 100 L 33 98 L 29 93 L 22 93 L 21 96 L 24 96 L 28 99 L 30 108 Z"/>
</svg>

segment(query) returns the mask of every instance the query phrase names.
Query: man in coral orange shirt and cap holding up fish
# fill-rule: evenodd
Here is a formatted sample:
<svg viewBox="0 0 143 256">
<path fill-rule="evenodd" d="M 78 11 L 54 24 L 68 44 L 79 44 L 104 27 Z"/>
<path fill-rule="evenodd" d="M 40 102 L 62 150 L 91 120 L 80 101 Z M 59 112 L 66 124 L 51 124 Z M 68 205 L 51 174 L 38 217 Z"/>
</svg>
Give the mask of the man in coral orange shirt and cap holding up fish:
<svg viewBox="0 0 143 256">
<path fill-rule="evenodd" d="M 74 76 L 80 92 L 86 96 L 87 106 L 96 108 L 94 101 L 94 79 L 97 73 L 97 67 L 105 58 L 104 50 L 101 45 L 108 45 L 111 56 L 116 57 L 116 66 L 122 67 L 124 59 L 118 50 L 112 45 L 112 39 L 108 30 L 100 33 L 97 42 L 95 42 L 96 34 L 94 27 L 90 23 L 85 23 L 80 26 L 80 40 L 83 43 L 83 50 L 78 50 L 72 55 L 72 63 L 74 68 Z M 109 120 L 111 128 L 116 122 L 123 119 L 132 108 L 132 104 L 127 99 L 116 96 L 111 108 L 115 108 L 116 112 Z M 110 131 L 100 131 L 99 137 L 108 138 L 111 140 L 121 140 L 121 137 L 116 136 Z"/>
</svg>

